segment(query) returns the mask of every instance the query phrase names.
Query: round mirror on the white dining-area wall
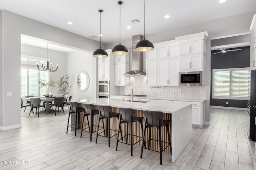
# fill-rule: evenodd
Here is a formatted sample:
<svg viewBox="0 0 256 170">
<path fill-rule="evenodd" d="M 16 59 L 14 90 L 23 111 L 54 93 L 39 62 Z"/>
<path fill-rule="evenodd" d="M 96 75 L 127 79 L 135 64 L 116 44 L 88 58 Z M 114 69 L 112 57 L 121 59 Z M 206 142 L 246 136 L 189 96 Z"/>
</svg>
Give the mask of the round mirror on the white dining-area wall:
<svg viewBox="0 0 256 170">
<path fill-rule="evenodd" d="M 76 85 L 80 92 L 85 92 L 90 84 L 89 75 L 86 71 L 81 71 L 76 78 Z"/>
</svg>

